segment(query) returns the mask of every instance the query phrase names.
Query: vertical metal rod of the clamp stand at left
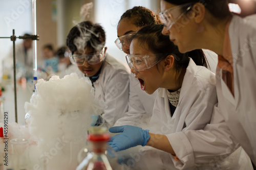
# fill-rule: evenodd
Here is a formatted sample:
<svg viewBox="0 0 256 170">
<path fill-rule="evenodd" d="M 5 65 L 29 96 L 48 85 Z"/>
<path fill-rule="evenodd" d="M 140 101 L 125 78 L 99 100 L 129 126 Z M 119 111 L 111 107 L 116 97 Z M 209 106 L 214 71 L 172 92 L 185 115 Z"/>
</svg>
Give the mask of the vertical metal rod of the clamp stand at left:
<svg viewBox="0 0 256 170">
<path fill-rule="evenodd" d="M 13 41 L 13 79 L 14 79 L 14 103 L 15 103 L 15 122 L 18 123 L 18 114 L 17 114 L 17 88 L 16 88 L 16 58 L 15 58 L 15 32 L 12 30 Z"/>
</svg>

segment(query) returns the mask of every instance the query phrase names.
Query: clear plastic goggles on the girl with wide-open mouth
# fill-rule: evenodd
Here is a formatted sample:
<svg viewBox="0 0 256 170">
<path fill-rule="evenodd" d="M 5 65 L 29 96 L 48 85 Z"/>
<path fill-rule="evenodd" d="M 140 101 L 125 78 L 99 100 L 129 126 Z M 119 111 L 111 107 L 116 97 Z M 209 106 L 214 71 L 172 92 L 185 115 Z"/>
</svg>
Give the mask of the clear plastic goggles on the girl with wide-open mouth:
<svg viewBox="0 0 256 170">
<path fill-rule="evenodd" d="M 131 69 L 134 68 L 136 71 L 143 71 L 161 61 L 157 59 L 157 56 L 159 55 L 127 55 L 125 58 Z"/>
</svg>

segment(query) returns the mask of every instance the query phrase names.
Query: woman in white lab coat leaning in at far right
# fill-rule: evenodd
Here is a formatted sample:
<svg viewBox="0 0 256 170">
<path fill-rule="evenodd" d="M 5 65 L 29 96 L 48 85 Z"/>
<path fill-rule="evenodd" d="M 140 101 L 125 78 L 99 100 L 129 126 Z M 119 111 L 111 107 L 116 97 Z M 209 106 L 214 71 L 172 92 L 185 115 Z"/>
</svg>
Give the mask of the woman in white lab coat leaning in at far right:
<svg viewBox="0 0 256 170">
<path fill-rule="evenodd" d="M 256 15 L 246 18 L 233 15 L 224 0 L 162 0 L 161 11 L 165 25 L 162 32 L 169 35 L 180 52 L 206 48 L 219 55 L 216 71 L 218 119 L 225 120 L 231 131 L 229 135 L 241 144 L 255 165 Z M 212 131 L 211 126 L 214 125 L 207 126 L 207 130 Z M 220 137 L 221 134 L 215 135 Z M 191 136 L 193 132 L 187 132 L 183 138 L 188 138 L 191 143 L 188 148 L 195 154 L 200 150 L 199 143 L 189 138 Z M 215 144 L 211 143 L 208 148 Z"/>
</svg>

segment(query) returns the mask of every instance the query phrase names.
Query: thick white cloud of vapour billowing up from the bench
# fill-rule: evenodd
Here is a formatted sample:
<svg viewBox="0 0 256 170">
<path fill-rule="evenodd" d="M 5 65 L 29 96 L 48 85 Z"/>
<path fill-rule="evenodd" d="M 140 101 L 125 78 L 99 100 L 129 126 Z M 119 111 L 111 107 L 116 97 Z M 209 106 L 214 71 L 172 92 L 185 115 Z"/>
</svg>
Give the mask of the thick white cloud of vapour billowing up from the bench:
<svg viewBox="0 0 256 170">
<path fill-rule="evenodd" d="M 30 157 L 51 170 L 74 169 L 77 153 L 86 144 L 91 115 L 96 114 L 91 82 L 76 74 L 63 79 L 53 76 L 49 81 L 38 80 L 36 90 L 30 103 L 25 103 L 31 116 L 29 131 L 37 143 Z"/>
</svg>

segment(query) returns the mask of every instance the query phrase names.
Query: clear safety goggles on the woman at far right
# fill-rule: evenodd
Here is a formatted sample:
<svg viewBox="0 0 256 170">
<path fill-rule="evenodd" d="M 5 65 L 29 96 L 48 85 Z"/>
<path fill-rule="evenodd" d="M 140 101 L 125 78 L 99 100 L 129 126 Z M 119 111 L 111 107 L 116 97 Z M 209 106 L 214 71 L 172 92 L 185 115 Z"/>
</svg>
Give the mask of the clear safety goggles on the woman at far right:
<svg viewBox="0 0 256 170">
<path fill-rule="evenodd" d="M 181 9 L 187 7 L 183 13 Z M 187 11 L 189 11 L 193 5 L 187 3 L 184 5 L 179 5 L 177 7 L 169 8 L 161 13 L 159 13 L 160 20 L 162 21 L 164 27 L 169 30 L 177 20 L 179 20 Z"/>
</svg>

